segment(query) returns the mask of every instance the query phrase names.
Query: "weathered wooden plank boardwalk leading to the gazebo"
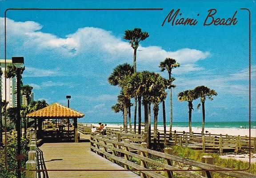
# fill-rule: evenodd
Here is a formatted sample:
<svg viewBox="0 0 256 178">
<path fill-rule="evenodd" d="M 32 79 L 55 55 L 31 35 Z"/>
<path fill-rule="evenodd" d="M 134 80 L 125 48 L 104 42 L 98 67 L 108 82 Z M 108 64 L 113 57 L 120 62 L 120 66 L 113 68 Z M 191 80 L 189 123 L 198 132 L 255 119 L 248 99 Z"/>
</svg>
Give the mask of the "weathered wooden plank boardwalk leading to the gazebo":
<svg viewBox="0 0 256 178">
<path fill-rule="evenodd" d="M 80 133 L 82 143 L 44 143 L 38 148 L 40 169 L 93 169 L 95 171 L 45 171 L 41 178 L 140 178 L 131 171 L 97 171 L 97 169 L 124 170 L 111 161 L 90 151 L 89 135 Z"/>
</svg>

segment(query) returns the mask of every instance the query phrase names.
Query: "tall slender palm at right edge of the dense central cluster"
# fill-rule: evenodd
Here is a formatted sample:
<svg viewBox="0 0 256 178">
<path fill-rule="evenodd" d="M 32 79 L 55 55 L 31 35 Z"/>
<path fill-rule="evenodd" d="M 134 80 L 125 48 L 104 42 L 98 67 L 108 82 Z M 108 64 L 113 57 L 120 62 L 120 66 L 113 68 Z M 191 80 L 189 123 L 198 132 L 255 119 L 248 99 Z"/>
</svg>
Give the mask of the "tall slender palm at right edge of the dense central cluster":
<svg viewBox="0 0 256 178">
<path fill-rule="evenodd" d="M 172 69 L 179 67 L 180 64 L 176 62 L 175 59 L 172 58 L 165 58 L 165 60 L 163 62 L 160 62 L 160 68 L 161 71 L 163 72 L 164 70 L 168 71 L 168 75 L 169 75 L 169 81 L 170 84 L 172 85 Z M 172 139 L 172 87 L 170 87 L 170 110 L 171 110 L 171 114 L 170 114 L 170 135 L 169 135 L 169 140 Z"/>
</svg>

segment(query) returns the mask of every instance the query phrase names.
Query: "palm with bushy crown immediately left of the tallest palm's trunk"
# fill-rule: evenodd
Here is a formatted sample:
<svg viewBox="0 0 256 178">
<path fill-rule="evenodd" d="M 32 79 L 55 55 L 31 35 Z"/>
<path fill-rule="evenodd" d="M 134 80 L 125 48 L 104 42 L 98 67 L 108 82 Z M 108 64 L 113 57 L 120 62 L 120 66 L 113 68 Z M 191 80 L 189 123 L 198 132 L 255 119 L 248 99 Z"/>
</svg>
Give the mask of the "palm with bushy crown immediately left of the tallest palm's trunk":
<svg viewBox="0 0 256 178">
<path fill-rule="evenodd" d="M 119 85 L 120 81 L 124 80 L 124 77 L 131 76 L 133 74 L 133 67 L 127 63 L 116 66 L 113 72 L 108 77 L 108 82 L 111 85 Z M 122 88 L 122 87 L 121 87 Z M 128 107 L 130 106 L 130 98 L 124 96 L 124 131 L 127 132 L 127 114 Z M 130 110 L 130 109 L 129 109 Z M 129 120 L 131 125 L 131 120 Z M 132 126 L 132 125 L 131 125 Z"/>
</svg>

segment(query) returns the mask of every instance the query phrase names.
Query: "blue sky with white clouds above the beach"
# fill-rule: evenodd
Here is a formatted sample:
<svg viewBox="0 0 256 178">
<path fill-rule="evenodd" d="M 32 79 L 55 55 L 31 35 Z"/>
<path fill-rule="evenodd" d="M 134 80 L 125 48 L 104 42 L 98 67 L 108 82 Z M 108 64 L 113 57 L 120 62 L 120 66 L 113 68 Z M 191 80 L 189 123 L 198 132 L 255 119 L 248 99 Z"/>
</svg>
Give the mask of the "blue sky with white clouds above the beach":
<svg viewBox="0 0 256 178">
<path fill-rule="evenodd" d="M 111 111 L 120 88 L 107 77 L 118 64 L 133 62 L 133 50 L 123 39 L 135 27 L 149 33 L 137 52 L 137 70 L 159 72 L 159 63 L 175 58 L 173 70 L 174 121 L 188 120 L 188 106 L 177 94 L 197 85 L 215 89 L 218 96 L 206 102 L 208 121 L 248 121 L 248 12 L 252 13 L 252 115 L 255 118 L 255 4 L 253 1 L 1 1 L 0 58 L 4 58 L 6 8 L 164 8 L 163 11 L 8 11 L 7 58 L 24 56 L 23 81 L 34 87 L 35 99 L 67 104 L 83 112 L 84 122 L 122 122 Z M 161 26 L 172 9 L 197 18 L 196 26 Z M 203 26 L 208 10 L 215 17 L 232 17 L 235 26 Z M 197 14 L 200 14 L 197 16 Z M 166 72 L 160 73 L 168 77 Z M 167 120 L 169 120 L 169 97 Z M 201 121 L 194 102 L 193 121 Z M 159 121 L 162 119 L 160 105 Z M 133 115 L 133 114 L 132 114 Z"/>
</svg>

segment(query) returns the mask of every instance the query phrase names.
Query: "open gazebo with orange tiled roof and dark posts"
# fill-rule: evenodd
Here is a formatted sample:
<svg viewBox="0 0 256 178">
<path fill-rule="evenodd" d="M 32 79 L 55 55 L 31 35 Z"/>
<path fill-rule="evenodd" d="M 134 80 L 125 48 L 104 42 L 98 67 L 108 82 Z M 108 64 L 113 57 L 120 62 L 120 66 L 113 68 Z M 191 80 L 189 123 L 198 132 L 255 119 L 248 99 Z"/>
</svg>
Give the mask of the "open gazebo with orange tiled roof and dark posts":
<svg viewBox="0 0 256 178">
<path fill-rule="evenodd" d="M 29 113 L 27 117 L 38 120 L 38 130 L 39 133 L 42 131 L 42 122 L 45 119 L 74 119 L 74 138 L 75 142 L 78 142 L 77 134 L 77 118 L 84 117 L 84 114 L 77 112 L 74 109 L 63 106 L 59 103 L 51 104 L 45 108 L 39 109 L 35 112 Z M 35 122 L 36 125 L 36 122 Z M 68 125 L 68 135 L 69 135 L 69 125 Z"/>
</svg>

